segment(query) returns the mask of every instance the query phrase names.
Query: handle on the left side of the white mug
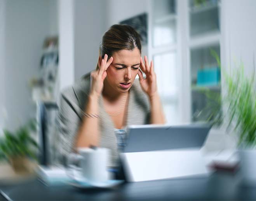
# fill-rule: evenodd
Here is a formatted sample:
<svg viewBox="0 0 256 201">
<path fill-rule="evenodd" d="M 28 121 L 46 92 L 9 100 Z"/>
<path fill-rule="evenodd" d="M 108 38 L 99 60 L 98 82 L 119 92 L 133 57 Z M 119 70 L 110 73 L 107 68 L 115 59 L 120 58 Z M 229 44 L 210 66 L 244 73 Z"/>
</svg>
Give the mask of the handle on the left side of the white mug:
<svg viewBox="0 0 256 201">
<path fill-rule="evenodd" d="M 82 177 L 81 171 L 82 168 L 78 167 L 77 163 L 79 163 L 84 157 L 79 155 L 79 154 L 75 154 L 75 153 L 71 153 L 70 155 L 68 155 L 68 160 L 67 160 L 67 175 L 68 177 L 70 177 L 72 180 L 75 180 L 76 182 L 78 182 Z"/>
</svg>

